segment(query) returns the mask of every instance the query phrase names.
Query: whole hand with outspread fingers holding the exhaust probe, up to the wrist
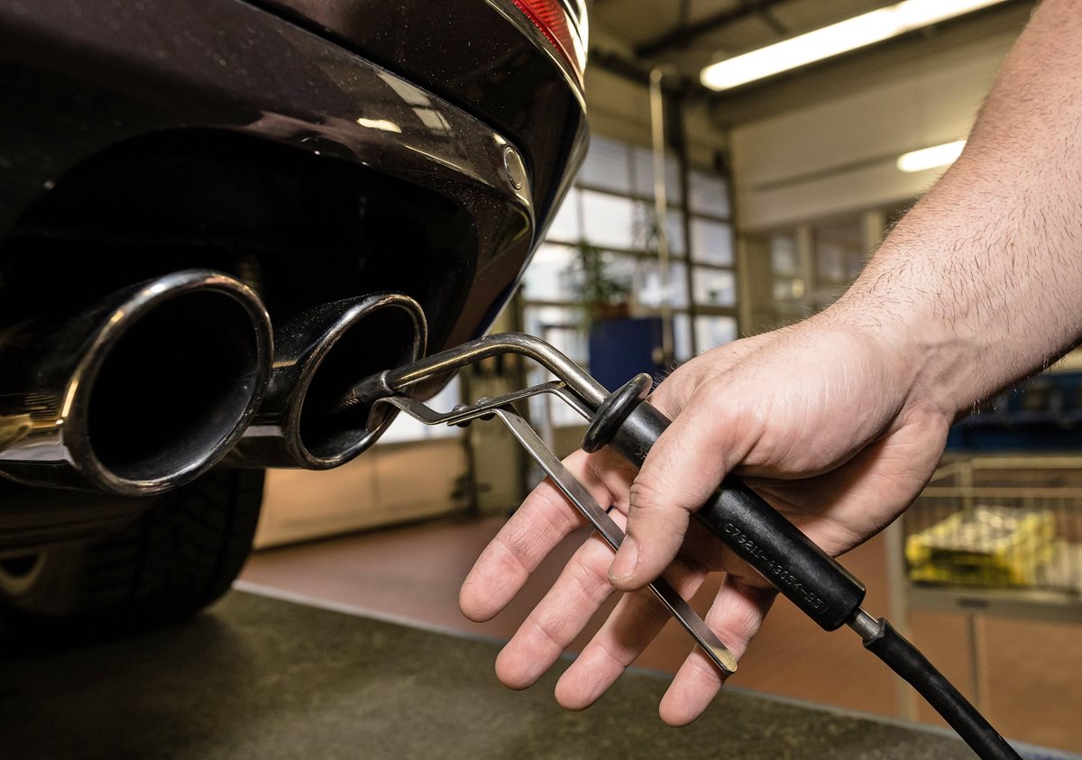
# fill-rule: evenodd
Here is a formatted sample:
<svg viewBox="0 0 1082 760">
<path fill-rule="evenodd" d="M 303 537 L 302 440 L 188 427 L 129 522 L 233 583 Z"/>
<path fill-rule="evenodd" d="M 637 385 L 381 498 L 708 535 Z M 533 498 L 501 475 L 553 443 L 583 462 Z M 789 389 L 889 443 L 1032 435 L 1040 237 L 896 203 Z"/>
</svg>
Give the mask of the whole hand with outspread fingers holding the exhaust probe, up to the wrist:
<svg viewBox="0 0 1082 760">
<path fill-rule="evenodd" d="M 673 372 L 650 398 L 673 423 L 641 472 L 608 448 L 566 460 L 598 503 L 616 507 L 628 538 L 615 559 L 597 536 L 580 547 L 501 652 L 500 680 L 532 684 L 610 593 L 626 591 L 556 686 L 564 707 L 593 704 L 668 619 L 644 587 L 670 565 L 667 578 L 685 598 L 710 572 L 727 574 L 705 620 L 741 656 L 775 591 L 689 523 L 690 513 L 735 471 L 832 555 L 878 533 L 927 482 L 951 421 L 951 410 L 918 392 L 910 358 L 820 315 L 709 351 Z M 494 616 L 582 524 L 551 482 L 539 485 L 465 579 L 466 617 Z M 662 719 L 692 721 L 722 682 L 705 655 L 692 652 L 662 699 Z"/>
</svg>

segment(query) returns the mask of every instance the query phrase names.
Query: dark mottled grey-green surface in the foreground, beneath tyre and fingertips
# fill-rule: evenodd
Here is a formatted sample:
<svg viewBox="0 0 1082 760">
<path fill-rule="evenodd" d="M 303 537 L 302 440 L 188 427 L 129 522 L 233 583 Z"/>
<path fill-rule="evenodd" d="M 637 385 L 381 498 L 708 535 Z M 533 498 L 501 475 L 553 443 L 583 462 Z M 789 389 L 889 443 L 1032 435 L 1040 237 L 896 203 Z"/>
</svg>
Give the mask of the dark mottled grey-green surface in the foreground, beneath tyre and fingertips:
<svg viewBox="0 0 1082 760">
<path fill-rule="evenodd" d="M 0 638 L 3 758 L 973 757 L 946 731 L 737 689 L 671 729 L 668 678 L 645 671 L 567 712 L 555 674 L 497 682 L 498 642 L 239 591 L 180 627 L 37 648 Z"/>
</svg>

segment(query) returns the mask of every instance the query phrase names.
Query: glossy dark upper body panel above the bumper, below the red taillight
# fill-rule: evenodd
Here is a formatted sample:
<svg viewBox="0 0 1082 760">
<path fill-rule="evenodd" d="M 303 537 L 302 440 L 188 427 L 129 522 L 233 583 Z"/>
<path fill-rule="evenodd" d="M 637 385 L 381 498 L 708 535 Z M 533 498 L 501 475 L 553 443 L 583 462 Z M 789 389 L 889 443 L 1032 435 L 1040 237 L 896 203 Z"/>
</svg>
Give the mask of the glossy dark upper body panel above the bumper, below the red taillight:
<svg viewBox="0 0 1082 760">
<path fill-rule="evenodd" d="M 510 0 L 253 0 L 479 116 L 515 142 L 547 224 L 585 149 L 575 75 Z"/>
</svg>

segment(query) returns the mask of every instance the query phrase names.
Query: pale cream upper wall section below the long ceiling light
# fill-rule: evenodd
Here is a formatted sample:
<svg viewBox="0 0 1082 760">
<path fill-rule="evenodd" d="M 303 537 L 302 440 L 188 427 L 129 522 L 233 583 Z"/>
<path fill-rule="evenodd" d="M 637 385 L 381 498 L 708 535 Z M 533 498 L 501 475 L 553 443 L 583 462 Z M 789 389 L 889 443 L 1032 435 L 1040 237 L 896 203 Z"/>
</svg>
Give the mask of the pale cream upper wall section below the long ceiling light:
<svg viewBox="0 0 1082 760">
<path fill-rule="evenodd" d="M 966 135 L 1016 37 L 999 32 L 940 51 L 860 91 L 734 128 L 739 227 L 764 230 L 920 195 L 938 171 L 906 174 L 895 160 Z"/>
</svg>

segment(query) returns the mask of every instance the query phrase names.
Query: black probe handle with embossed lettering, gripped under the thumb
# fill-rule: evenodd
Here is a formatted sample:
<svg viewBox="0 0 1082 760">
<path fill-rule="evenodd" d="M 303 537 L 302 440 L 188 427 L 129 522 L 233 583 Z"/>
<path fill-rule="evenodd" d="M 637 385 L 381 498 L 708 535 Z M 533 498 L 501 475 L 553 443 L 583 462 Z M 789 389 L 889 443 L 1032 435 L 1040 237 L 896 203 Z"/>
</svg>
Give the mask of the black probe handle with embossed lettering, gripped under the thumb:
<svg viewBox="0 0 1082 760">
<path fill-rule="evenodd" d="M 641 403 L 609 443 L 641 466 L 669 423 Z M 725 479 L 695 516 L 824 630 L 839 628 L 860 607 L 863 584 L 737 479 Z"/>
</svg>

